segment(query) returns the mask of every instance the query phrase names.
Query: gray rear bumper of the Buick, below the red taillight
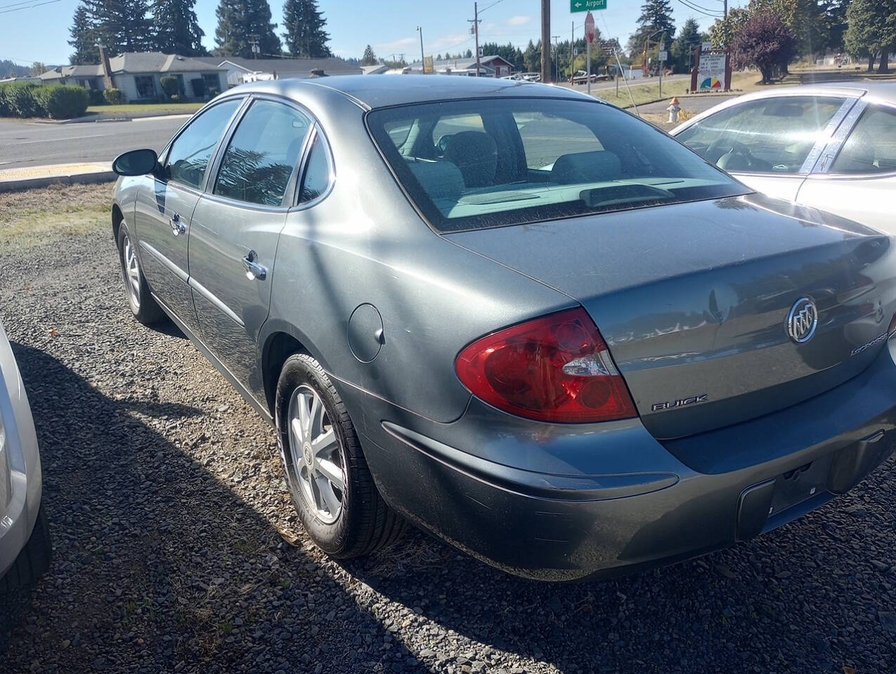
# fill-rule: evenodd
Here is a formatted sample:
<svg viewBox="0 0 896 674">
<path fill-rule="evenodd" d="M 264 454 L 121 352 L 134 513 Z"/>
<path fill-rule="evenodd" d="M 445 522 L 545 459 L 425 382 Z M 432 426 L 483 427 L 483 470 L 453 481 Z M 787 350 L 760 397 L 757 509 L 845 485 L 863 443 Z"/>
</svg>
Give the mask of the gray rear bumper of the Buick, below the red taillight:
<svg viewBox="0 0 896 674">
<path fill-rule="evenodd" d="M 439 424 L 343 387 L 383 497 L 520 576 L 609 576 L 728 546 L 849 490 L 896 448 L 887 345 L 799 405 L 661 444 L 638 420 L 526 422 L 470 401 Z"/>
</svg>

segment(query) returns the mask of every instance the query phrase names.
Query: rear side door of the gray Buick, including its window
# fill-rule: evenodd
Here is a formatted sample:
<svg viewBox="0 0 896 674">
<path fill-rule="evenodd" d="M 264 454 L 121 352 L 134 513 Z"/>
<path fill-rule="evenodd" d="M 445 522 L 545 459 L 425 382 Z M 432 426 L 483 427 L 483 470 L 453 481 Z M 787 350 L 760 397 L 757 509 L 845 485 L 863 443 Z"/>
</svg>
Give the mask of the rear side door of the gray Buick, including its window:
<svg viewBox="0 0 896 674">
<path fill-rule="evenodd" d="M 312 128 L 298 107 L 255 98 L 194 211 L 190 286 L 202 341 L 256 395 L 263 391 L 257 338 L 271 302 L 274 254 Z"/>
</svg>

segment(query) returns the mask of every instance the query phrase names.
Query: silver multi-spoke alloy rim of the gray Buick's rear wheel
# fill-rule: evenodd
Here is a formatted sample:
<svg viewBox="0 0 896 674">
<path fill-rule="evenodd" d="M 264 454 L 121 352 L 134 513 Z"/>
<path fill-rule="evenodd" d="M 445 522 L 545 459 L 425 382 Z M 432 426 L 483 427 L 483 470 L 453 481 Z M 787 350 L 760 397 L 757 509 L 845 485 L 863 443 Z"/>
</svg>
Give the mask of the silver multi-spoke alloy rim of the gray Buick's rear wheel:
<svg viewBox="0 0 896 674">
<path fill-rule="evenodd" d="M 298 487 L 314 516 L 331 525 L 340 516 L 346 473 L 342 448 L 323 400 L 303 384 L 289 398 L 289 455 Z"/>
</svg>

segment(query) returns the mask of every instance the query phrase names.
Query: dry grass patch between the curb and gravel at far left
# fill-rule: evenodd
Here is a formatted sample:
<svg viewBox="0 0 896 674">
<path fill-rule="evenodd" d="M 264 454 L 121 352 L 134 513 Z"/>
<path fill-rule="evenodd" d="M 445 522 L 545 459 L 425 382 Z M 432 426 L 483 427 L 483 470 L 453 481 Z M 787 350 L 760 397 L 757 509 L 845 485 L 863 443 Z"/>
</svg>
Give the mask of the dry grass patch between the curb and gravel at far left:
<svg viewBox="0 0 896 674">
<path fill-rule="evenodd" d="M 109 227 L 112 184 L 0 192 L 0 246 L 30 248 Z"/>
</svg>

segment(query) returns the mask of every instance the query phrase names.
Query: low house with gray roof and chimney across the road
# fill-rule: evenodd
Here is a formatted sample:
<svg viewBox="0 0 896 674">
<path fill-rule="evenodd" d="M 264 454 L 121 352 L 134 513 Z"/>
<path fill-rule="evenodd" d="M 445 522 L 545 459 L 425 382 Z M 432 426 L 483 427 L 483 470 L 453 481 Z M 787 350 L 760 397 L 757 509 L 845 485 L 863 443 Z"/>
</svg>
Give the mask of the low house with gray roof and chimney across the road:
<svg viewBox="0 0 896 674">
<path fill-rule="evenodd" d="M 39 75 L 47 84 L 78 84 L 88 90 L 121 90 L 127 101 L 165 96 L 161 78 L 177 78 L 180 96 L 211 98 L 227 88 L 226 72 L 216 65 L 177 54 L 126 52 L 112 56 L 100 47 L 97 65 L 61 65 Z"/>
</svg>

